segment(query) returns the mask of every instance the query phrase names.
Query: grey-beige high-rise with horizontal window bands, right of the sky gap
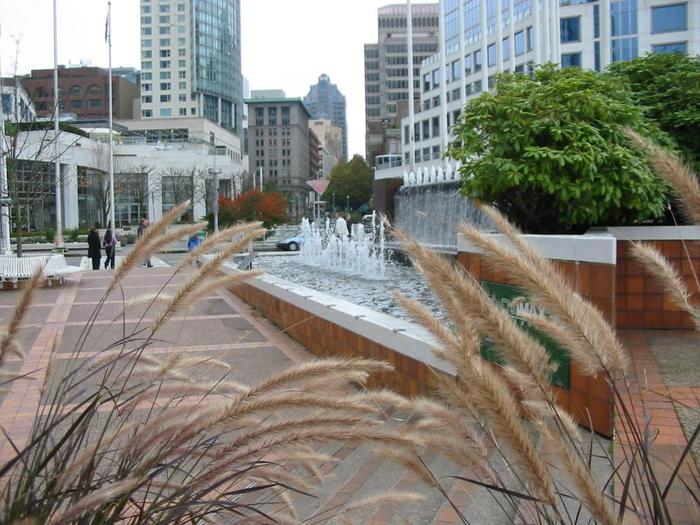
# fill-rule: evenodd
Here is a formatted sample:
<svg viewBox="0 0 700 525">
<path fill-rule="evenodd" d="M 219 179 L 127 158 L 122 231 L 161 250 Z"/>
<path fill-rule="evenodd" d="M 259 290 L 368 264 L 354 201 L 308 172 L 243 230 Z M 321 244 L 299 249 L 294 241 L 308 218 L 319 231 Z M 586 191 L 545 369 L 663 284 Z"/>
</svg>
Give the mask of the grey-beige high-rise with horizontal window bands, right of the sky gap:
<svg viewBox="0 0 700 525">
<path fill-rule="evenodd" d="M 365 150 L 367 163 L 377 155 L 400 154 L 401 117 L 409 103 L 408 67 L 414 70 L 412 100 L 420 98 L 419 67 L 439 47 L 438 4 L 414 4 L 413 56 L 408 58 L 406 5 L 378 11 L 376 44 L 365 44 Z"/>
</svg>

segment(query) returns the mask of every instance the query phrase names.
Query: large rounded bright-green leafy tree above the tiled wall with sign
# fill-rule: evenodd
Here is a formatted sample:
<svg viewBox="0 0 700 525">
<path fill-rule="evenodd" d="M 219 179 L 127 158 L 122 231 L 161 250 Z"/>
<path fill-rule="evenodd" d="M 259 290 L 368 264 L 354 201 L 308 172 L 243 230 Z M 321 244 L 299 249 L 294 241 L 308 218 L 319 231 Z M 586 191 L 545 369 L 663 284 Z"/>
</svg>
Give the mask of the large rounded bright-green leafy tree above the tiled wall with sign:
<svg viewBox="0 0 700 525">
<path fill-rule="evenodd" d="M 571 233 L 663 215 L 667 188 L 623 134 L 669 145 L 620 82 L 579 68 L 501 75 L 465 106 L 448 154 L 462 192 L 527 232 Z"/>
</svg>

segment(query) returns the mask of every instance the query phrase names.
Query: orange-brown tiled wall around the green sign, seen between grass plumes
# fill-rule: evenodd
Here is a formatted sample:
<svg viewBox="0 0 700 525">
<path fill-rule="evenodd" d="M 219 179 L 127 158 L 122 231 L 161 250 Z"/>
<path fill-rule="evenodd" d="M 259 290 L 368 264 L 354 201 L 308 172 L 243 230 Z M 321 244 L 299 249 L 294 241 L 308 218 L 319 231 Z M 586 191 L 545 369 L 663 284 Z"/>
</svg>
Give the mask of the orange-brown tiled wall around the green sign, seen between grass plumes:
<svg viewBox="0 0 700 525">
<path fill-rule="evenodd" d="M 515 285 L 512 279 L 494 270 L 478 253 L 460 252 L 457 261 L 477 279 Z M 592 301 L 609 321 L 614 322 L 614 265 L 577 261 L 553 262 L 581 295 Z M 574 416 L 581 426 L 589 428 L 592 422 L 592 428 L 596 432 L 611 436 L 613 398 L 604 378 L 583 375 L 572 363 L 569 380 L 570 390 L 556 388 L 560 406 Z"/>
</svg>

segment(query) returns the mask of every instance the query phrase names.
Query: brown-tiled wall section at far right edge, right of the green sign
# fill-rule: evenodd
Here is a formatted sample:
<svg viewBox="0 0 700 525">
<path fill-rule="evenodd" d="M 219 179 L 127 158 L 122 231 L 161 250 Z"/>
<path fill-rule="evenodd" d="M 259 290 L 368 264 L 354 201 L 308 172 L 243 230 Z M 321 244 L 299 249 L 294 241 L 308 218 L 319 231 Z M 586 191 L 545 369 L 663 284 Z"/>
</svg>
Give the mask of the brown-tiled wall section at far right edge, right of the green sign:
<svg viewBox="0 0 700 525">
<path fill-rule="evenodd" d="M 697 298 L 695 275 L 700 275 L 700 241 L 643 240 L 663 253 L 676 268 L 691 296 Z M 632 242 L 618 239 L 616 317 L 619 328 L 694 329 L 687 313 L 664 293 L 658 279 L 630 256 Z M 685 248 L 683 246 L 685 244 Z M 687 253 L 686 253 L 687 249 Z"/>
</svg>

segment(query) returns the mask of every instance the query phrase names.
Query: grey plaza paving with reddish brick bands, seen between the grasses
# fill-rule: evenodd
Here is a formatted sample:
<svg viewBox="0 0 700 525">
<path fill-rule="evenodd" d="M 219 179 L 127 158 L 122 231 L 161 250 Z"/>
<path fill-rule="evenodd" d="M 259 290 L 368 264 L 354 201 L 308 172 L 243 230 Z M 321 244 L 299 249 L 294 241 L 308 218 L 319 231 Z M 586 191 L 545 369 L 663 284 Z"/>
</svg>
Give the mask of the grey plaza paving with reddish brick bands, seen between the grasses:
<svg viewBox="0 0 700 525">
<path fill-rule="evenodd" d="M 169 279 L 172 271 L 172 268 L 165 265 L 136 269 L 124 281 L 125 297 L 129 299 L 156 291 Z M 38 294 L 21 329 L 20 342 L 25 358 L 13 359 L 8 363 L 10 370 L 33 373 L 36 379 L 17 381 L 9 392 L 0 394 L 0 424 L 8 429 L 15 442 L 21 444 L 29 435 L 54 341 L 58 342 L 55 350 L 58 366 L 55 368 L 60 369 L 61 362 L 65 364 L 65 361 L 70 359 L 75 341 L 111 276 L 111 271 L 107 270 L 84 272 L 72 276 L 62 287 L 46 288 Z M 176 282 L 168 285 L 166 289 L 170 290 L 185 277 L 178 276 Z M 6 322 L 17 297 L 18 292 L 14 291 L 0 294 L 2 324 Z M 120 311 L 121 296 L 114 294 L 98 318 L 90 344 L 91 349 L 104 348 L 119 338 L 122 326 L 120 323 L 114 323 L 113 319 Z M 136 322 L 136 319 L 128 317 L 127 323 Z M 657 335 L 658 333 L 626 332 L 625 342 L 629 347 L 640 349 L 634 353 L 638 378 L 636 385 L 639 389 L 635 402 L 640 409 L 643 405 L 650 410 L 653 422 L 662 427 L 663 431 L 659 437 L 666 447 L 663 453 L 670 458 L 677 456 L 685 440 L 681 425 L 683 418 L 692 416 L 681 413 L 679 407 L 674 406 L 664 396 L 672 393 L 683 399 L 687 406 L 697 407 L 700 404 L 700 384 L 697 384 L 699 382 L 696 378 L 698 368 L 694 369 L 695 373 L 687 376 L 685 383 L 674 383 L 663 375 L 663 367 L 657 363 L 654 349 L 663 350 L 669 345 L 677 348 L 679 341 L 685 342 L 686 345 L 692 343 L 698 348 L 698 341 L 689 339 L 695 336 L 687 334 L 667 333 L 666 337 L 670 337 L 670 340 L 655 339 Z M 179 314 L 166 326 L 161 337 L 162 340 L 149 348 L 148 353 L 184 349 L 187 352 L 197 352 L 202 357 L 212 356 L 231 365 L 231 379 L 247 384 L 256 383 L 293 363 L 313 358 L 282 331 L 260 318 L 255 311 L 227 291 L 212 294 L 192 310 Z M 673 375 L 673 371 L 670 373 Z M 668 384 L 669 381 L 671 385 Z M 695 384 L 690 384 L 693 382 Z M 649 393 L 650 385 L 662 392 Z M 390 425 L 401 426 L 407 424 L 411 416 L 387 413 L 385 417 Z M 413 474 L 400 466 L 376 458 L 366 447 L 336 443 L 322 447 L 322 451 L 332 457 L 331 461 L 321 467 L 327 477 L 314 490 L 314 497 L 293 497 L 300 518 L 310 518 L 311 523 L 324 523 L 351 501 L 358 501 L 381 491 L 397 489 L 417 491 L 424 495 L 425 500 L 420 503 L 401 504 L 398 508 L 384 505 L 362 509 L 353 516 L 352 521 L 372 525 L 462 523 L 456 510 L 438 491 L 428 490 Z M 7 460 L 11 454 L 12 451 L 7 445 L 0 448 L 0 460 Z M 491 496 L 482 490 L 475 490 L 471 486 L 456 482 L 453 478 L 454 475 L 469 473 L 459 471 L 452 462 L 434 455 L 428 454 L 424 459 L 435 473 L 443 490 L 463 512 L 467 522 L 512 522 Z M 679 498 L 683 499 L 681 496 Z M 677 523 L 700 522 L 698 515 L 692 514 L 690 508 L 685 500 L 674 501 L 673 512 L 679 518 Z"/>
</svg>

